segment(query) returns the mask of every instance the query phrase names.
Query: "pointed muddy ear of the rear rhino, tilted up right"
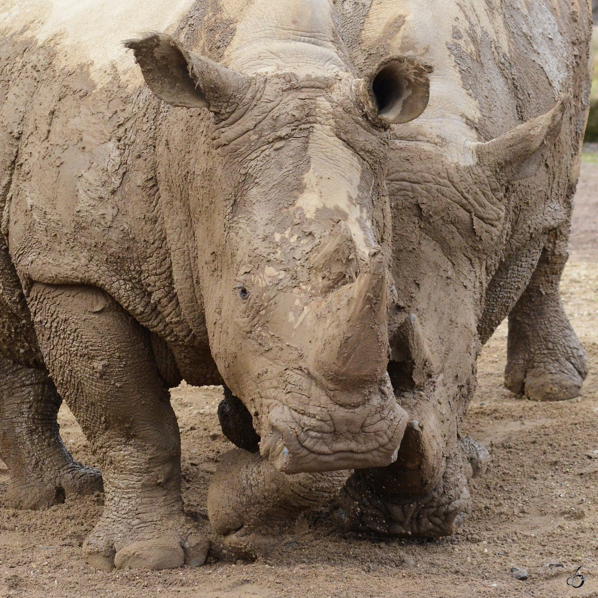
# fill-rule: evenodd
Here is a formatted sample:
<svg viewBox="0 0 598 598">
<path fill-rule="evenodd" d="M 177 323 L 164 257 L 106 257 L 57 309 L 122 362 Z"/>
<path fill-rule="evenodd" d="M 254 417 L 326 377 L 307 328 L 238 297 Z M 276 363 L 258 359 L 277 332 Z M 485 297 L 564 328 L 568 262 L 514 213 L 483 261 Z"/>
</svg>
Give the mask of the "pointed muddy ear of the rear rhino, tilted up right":
<svg viewBox="0 0 598 598">
<path fill-rule="evenodd" d="M 473 144 L 478 164 L 507 181 L 532 176 L 542 163 L 542 150 L 559 137 L 566 99 L 561 97 L 552 110 L 492 141 Z"/>
</svg>

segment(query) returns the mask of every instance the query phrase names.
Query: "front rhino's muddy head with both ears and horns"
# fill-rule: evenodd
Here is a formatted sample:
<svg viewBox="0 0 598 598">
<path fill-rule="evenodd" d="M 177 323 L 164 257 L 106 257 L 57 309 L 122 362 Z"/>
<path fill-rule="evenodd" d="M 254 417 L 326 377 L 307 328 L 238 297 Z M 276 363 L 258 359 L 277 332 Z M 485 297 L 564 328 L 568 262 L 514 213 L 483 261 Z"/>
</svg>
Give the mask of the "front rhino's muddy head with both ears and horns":
<svg viewBox="0 0 598 598">
<path fill-rule="evenodd" d="M 159 97 L 216 115 L 206 185 L 226 213 L 204 212 L 222 234 L 205 248 L 202 294 L 261 454 L 287 473 L 393 462 L 407 414 L 386 372 L 386 123 L 423 110 L 426 69 L 395 59 L 373 86 L 341 70 L 248 77 L 166 36 L 129 47 Z"/>
</svg>

